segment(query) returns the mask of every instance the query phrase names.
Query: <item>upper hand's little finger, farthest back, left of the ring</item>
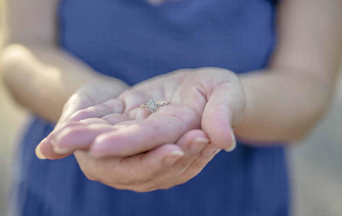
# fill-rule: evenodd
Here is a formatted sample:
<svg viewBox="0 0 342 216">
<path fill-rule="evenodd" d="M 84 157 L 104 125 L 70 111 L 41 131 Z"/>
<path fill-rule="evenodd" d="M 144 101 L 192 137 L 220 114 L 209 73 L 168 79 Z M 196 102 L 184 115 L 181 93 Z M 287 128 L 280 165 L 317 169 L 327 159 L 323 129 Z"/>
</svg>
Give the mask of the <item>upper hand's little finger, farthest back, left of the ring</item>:
<svg viewBox="0 0 342 216">
<path fill-rule="evenodd" d="M 118 99 L 110 99 L 87 109 L 79 110 L 70 116 L 69 120 L 80 121 L 87 118 L 102 118 L 106 115 L 123 112 L 123 102 Z"/>
</svg>

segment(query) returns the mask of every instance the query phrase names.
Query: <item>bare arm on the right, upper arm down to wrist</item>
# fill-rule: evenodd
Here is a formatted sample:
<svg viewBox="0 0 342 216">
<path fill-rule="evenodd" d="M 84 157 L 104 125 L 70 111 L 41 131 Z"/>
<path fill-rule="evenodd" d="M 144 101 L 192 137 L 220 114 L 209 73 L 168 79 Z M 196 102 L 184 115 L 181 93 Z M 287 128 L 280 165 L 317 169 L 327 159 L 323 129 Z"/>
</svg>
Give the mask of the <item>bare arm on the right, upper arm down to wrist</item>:
<svg viewBox="0 0 342 216">
<path fill-rule="evenodd" d="M 342 1 L 284 0 L 279 41 L 267 70 L 241 75 L 246 107 L 237 136 L 257 141 L 303 138 L 324 114 L 342 48 Z"/>
</svg>

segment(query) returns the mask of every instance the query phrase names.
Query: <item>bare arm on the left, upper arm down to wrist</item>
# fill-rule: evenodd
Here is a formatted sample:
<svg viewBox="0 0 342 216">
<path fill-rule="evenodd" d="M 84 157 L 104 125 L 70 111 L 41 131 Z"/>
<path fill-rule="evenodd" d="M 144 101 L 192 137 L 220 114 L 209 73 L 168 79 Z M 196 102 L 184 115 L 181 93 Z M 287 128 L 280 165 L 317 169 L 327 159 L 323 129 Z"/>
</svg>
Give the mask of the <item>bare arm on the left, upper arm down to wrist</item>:
<svg viewBox="0 0 342 216">
<path fill-rule="evenodd" d="M 0 71 L 14 98 L 38 115 L 57 121 L 79 87 L 96 81 L 126 84 L 102 75 L 58 47 L 58 0 L 4 1 Z"/>
</svg>

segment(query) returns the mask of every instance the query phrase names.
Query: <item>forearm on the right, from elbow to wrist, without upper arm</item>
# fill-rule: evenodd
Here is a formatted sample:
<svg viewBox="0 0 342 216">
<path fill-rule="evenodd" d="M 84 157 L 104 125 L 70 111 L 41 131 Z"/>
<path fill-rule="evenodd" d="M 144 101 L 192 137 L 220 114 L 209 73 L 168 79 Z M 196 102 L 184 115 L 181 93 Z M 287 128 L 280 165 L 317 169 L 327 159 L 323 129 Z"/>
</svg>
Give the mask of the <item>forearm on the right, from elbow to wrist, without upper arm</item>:
<svg viewBox="0 0 342 216">
<path fill-rule="evenodd" d="M 234 131 L 237 137 L 256 143 L 303 138 L 324 114 L 333 89 L 333 85 L 295 71 L 269 69 L 240 78 L 246 106 Z"/>
</svg>

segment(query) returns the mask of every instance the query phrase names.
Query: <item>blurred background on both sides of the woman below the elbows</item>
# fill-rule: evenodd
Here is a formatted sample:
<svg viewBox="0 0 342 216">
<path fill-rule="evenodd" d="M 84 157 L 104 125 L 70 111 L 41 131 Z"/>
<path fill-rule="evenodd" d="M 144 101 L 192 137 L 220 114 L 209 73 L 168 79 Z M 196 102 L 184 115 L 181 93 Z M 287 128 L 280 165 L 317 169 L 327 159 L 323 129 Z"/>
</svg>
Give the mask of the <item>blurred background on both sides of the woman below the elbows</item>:
<svg viewBox="0 0 342 216">
<path fill-rule="evenodd" d="M 13 152 L 27 113 L 11 99 L 0 78 L 0 216 L 6 215 L 6 185 Z M 342 214 L 342 75 L 328 113 L 308 138 L 289 148 L 293 216 Z"/>
</svg>

